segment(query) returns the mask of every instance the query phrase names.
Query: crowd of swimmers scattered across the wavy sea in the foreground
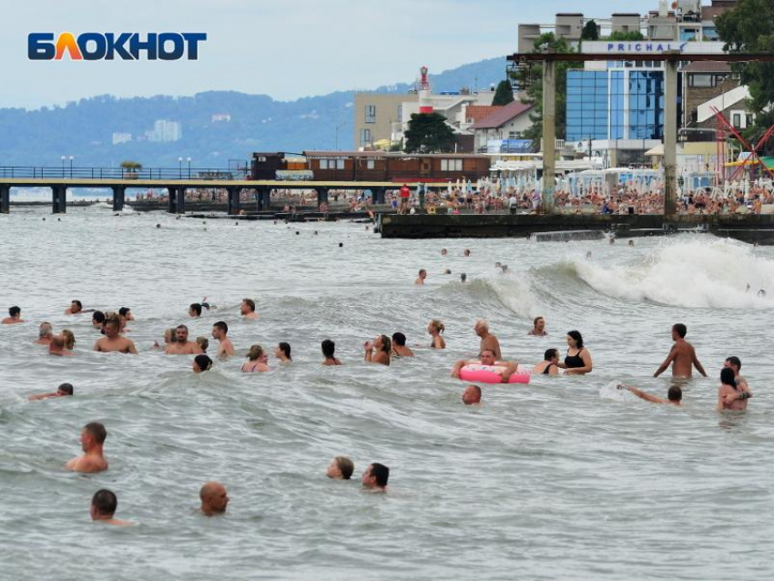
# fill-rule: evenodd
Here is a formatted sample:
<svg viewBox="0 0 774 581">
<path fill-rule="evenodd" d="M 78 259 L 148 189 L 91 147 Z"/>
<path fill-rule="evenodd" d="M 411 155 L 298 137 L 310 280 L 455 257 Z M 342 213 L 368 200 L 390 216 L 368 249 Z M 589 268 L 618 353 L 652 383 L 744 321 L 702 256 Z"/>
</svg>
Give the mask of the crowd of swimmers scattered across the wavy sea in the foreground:
<svg viewBox="0 0 774 581">
<path fill-rule="evenodd" d="M 202 301 L 194 303 L 188 308 L 188 316 L 198 318 L 201 316 L 202 309 L 212 308 L 209 303 Z M 243 319 L 257 320 L 259 315 L 255 311 L 255 301 L 244 299 L 239 305 L 239 313 Z M 132 311 L 127 307 L 122 307 L 115 312 L 103 311 L 84 311 L 80 301 L 71 301 L 66 309 L 67 315 L 77 315 L 80 313 L 92 313 L 92 325 L 103 335 L 95 344 L 93 350 L 96 352 L 122 352 L 137 354 L 137 347 L 134 341 L 125 337 L 122 333 L 127 331 L 127 322 L 134 321 Z M 8 310 L 8 317 L 3 319 L 5 325 L 25 322 L 22 319 L 21 309 L 17 306 Z M 427 333 L 431 336 L 429 347 L 432 349 L 445 349 L 446 343 L 443 339 L 445 327 L 442 321 L 433 319 L 427 325 Z M 236 355 L 234 345 L 229 340 L 229 327 L 225 321 L 217 321 L 212 325 L 211 338 L 218 341 L 218 348 L 215 353 L 216 358 L 225 360 Z M 453 377 L 459 377 L 460 372 L 465 365 L 481 364 L 492 366 L 496 372 L 500 373 L 503 382 L 508 382 L 512 373 L 518 367 L 514 361 L 506 361 L 500 349 L 500 341 L 490 331 L 489 325 L 484 320 L 475 321 L 474 333 L 479 339 L 478 356 L 470 360 L 460 360 L 455 362 L 452 369 Z M 527 335 L 535 337 L 547 337 L 546 324 L 544 317 L 536 317 L 533 321 L 533 327 L 527 331 Z M 672 375 L 676 379 L 689 379 L 695 368 L 703 376 L 707 376 L 704 367 L 698 361 L 697 353 L 688 341 L 686 341 L 687 327 L 682 323 L 672 326 L 671 338 L 672 348 L 667 358 L 658 366 L 654 377 L 667 371 L 671 366 Z M 71 331 L 63 330 L 58 335 L 54 334 L 52 325 L 44 321 L 39 325 L 38 337 L 34 341 L 36 344 L 47 345 L 49 352 L 53 355 L 72 354 L 75 347 L 75 336 Z M 206 337 L 199 337 L 198 341 L 188 339 L 188 327 L 184 324 L 175 328 L 168 329 L 164 333 L 163 347 L 164 352 L 168 354 L 193 355 L 193 372 L 207 372 L 213 367 L 213 360 L 206 354 L 209 348 L 209 340 Z M 558 375 L 563 371 L 566 375 L 585 375 L 593 372 L 594 363 L 592 354 L 586 347 L 583 336 L 579 331 L 568 331 L 566 333 L 567 349 L 564 359 L 561 358 L 558 349 L 550 348 L 544 353 L 544 360 L 538 362 L 531 369 L 532 374 L 540 375 Z M 162 349 L 158 343 L 155 349 Z M 321 352 L 323 356 L 323 365 L 341 365 L 341 361 L 335 355 L 335 343 L 330 339 L 321 342 Z M 274 349 L 274 356 L 281 364 L 290 364 L 292 362 L 290 343 L 281 341 Z M 392 337 L 381 334 L 372 341 L 363 343 L 363 359 L 365 362 L 372 362 L 382 365 L 390 365 L 393 358 L 413 357 L 414 352 L 406 344 L 406 336 L 402 332 L 395 332 Z M 269 367 L 269 353 L 260 345 L 250 346 L 247 352 L 247 362 L 242 365 L 242 372 L 267 372 Z M 720 372 L 720 386 L 718 387 L 718 411 L 732 410 L 743 411 L 747 408 L 747 403 L 752 392 L 749 390 L 747 380 L 739 372 L 741 370 L 741 361 L 736 356 L 729 356 Z M 679 406 L 682 403 L 683 393 L 679 384 L 673 384 L 668 388 L 667 399 L 660 398 L 651 393 L 644 392 L 637 387 L 618 384 L 618 389 L 631 392 L 637 397 L 651 403 L 666 403 Z M 30 400 L 45 400 L 58 397 L 69 397 L 74 395 L 74 387 L 71 383 L 62 383 L 56 389 L 56 392 L 47 392 L 31 395 Z M 483 390 L 479 385 L 466 385 L 463 389 L 462 401 L 465 405 L 477 405 L 482 402 Z M 68 470 L 91 474 L 107 470 L 107 459 L 104 455 L 104 444 L 107 439 L 107 430 L 102 423 L 87 423 L 81 431 L 80 443 L 83 454 L 73 458 L 66 463 Z M 354 464 L 346 456 L 337 456 L 331 461 L 326 474 L 331 479 L 351 480 L 354 470 Z M 368 464 L 368 467 L 362 474 L 362 485 L 364 488 L 372 491 L 383 492 L 386 490 L 390 470 L 387 466 L 379 463 Z M 201 503 L 201 512 L 204 515 L 219 515 L 226 511 L 229 503 L 229 496 L 223 484 L 218 482 L 208 482 L 201 486 L 199 491 L 199 500 Z M 113 492 L 102 489 L 97 491 L 92 498 L 91 517 L 93 520 L 102 521 L 112 525 L 127 525 L 127 521 L 121 521 L 115 518 L 117 510 L 117 496 Z"/>
</svg>

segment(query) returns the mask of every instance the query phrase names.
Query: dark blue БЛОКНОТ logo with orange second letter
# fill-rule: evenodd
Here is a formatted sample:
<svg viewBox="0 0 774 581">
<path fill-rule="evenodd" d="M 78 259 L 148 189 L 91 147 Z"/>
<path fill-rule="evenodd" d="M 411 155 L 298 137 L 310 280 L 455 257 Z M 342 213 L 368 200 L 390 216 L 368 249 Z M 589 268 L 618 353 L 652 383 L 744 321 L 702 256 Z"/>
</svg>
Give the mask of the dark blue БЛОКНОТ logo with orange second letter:
<svg viewBox="0 0 774 581">
<path fill-rule="evenodd" d="M 33 32 L 27 37 L 30 60 L 188 60 L 199 58 L 199 42 L 207 40 L 203 32 L 85 32 L 77 37 L 70 32 Z"/>
</svg>

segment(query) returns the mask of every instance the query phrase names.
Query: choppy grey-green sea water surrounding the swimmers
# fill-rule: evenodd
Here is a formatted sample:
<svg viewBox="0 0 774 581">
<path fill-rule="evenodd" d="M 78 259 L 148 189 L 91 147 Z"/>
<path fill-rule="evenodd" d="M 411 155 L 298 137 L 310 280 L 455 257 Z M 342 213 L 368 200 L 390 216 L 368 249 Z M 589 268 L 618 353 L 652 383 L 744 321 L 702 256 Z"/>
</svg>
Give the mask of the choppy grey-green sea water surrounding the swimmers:
<svg viewBox="0 0 774 581">
<path fill-rule="evenodd" d="M 101 204 L 60 217 L 13 208 L 0 215 L 0 245 L 0 308 L 17 304 L 29 321 L 0 327 L 4 580 L 774 573 L 772 249 L 709 235 L 634 248 L 381 240 L 356 223 L 118 217 Z M 429 276 L 416 287 L 420 268 Z M 205 296 L 217 309 L 189 319 Z M 246 297 L 258 321 L 240 320 Z M 90 315 L 63 314 L 73 299 L 130 307 L 139 355 L 92 352 Z M 537 315 L 546 338 L 526 335 Z M 427 348 L 433 318 L 446 325 L 445 351 Z M 505 357 L 527 364 L 550 347 L 564 356 L 577 329 L 595 370 L 484 385 L 483 404 L 464 406 L 449 372 L 477 352 L 479 318 Z M 239 356 L 211 372 L 152 350 L 168 327 L 186 323 L 195 337 L 220 320 Z M 75 332 L 74 357 L 33 344 L 41 321 Z M 666 397 L 668 372 L 652 375 L 675 322 L 709 374 L 684 385 L 682 409 L 616 390 Z M 395 331 L 415 358 L 362 361 L 363 341 Z M 326 338 L 343 366 L 321 366 Z M 289 366 L 272 356 L 270 372 L 239 371 L 251 344 L 279 341 L 292 346 Z M 715 411 L 728 355 L 755 393 L 746 413 Z M 61 382 L 74 397 L 27 401 Z M 69 473 L 92 421 L 107 427 L 109 469 Z M 355 463 L 351 482 L 325 476 L 339 454 Z M 391 469 L 386 494 L 362 491 L 372 462 Z M 228 487 L 226 515 L 199 514 L 208 480 Z M 136 525 L 90 521 L 103 487 L 118 496 L 117 518 Z"/>
</svg>

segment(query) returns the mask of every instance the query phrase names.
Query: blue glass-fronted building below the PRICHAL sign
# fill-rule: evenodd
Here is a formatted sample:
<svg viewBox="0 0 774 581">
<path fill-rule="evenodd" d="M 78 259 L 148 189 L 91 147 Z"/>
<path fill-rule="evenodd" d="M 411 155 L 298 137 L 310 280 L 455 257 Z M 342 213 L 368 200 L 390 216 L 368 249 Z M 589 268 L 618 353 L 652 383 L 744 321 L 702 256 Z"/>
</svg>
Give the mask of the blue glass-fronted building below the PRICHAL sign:
<svg viewBox="0 0 774 581">
<path fill-rule="evenodd" d="M 567 141 L 663 139 L 663 69 L 621 65 L 567 71 Z"/>
</svg>

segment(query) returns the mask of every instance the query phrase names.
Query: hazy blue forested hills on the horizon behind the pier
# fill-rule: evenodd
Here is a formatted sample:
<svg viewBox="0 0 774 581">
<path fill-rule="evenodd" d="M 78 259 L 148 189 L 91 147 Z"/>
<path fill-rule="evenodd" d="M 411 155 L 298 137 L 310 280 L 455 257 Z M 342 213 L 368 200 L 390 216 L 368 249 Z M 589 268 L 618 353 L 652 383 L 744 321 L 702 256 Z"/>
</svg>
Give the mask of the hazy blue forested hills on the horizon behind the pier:
<svg viewBox="0 0 774 581">
<path fill-rule="evenodd" d="M 504 68 L 504 57 L 492 58 L 431 75 L 431 82 L 435 91 L 476 83 L 489 87 L 504 78 Z M 375 90 L 405 92 L 411 86 L 399 83 Z M 352 96 L 352 91 L 339 91 L 275 101 L 266 95 L 209 91 L 193 97 L 104 95 L 36 110 L 3 108 L 0 165 L 57 167 L 64 155 L 74 156 L 80 167 L 116 166 L 133 159 L 174 168 L 178 158 L 191 158 L 197 168 L 225 167 L 229 160 L 250 158 L 253 151 L 334 148 L 336 127 L 340 147 L 352 148 Z M 152 140 L 164 136 L 163 127 L 147 135 L 160 119 L 178 122 L 181 138 Z M 177 130 L 168 129 L 166 137 L 174 138 Z M 114 145 L 114 134 L 132 138 Z"/>
</svg>

